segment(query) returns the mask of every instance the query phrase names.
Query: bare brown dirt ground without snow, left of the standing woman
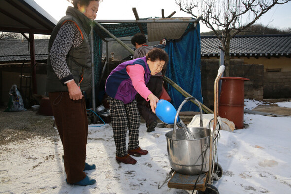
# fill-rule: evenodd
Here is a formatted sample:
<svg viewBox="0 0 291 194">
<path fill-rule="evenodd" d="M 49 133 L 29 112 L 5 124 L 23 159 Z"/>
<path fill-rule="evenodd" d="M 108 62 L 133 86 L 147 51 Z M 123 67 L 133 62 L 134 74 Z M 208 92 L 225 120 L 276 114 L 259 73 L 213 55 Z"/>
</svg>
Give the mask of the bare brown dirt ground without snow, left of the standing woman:
<svg viewBox="0 0 291 194">
<path fill-rule="evenodd" d="M 21 141 L 32 136 L 58 141 L 58 131 L 53 127 L 53 117 L 37 114 L 28 109 L 19 112 L 4 112 L 0 107 L 0 145 Z"/>
</svg>

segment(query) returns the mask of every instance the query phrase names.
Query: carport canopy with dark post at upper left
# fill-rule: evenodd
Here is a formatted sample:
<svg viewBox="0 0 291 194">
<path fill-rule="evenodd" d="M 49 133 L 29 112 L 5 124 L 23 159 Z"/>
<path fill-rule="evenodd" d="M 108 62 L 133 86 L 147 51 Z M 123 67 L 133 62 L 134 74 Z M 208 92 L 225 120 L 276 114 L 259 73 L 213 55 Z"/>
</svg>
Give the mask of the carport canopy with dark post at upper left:
<svg viewBox="0 0 291 194">
<path fill-rule="evenodd" d="M 37 93 L 34 34 L 50 35 L 56 24 L 57 20 L 33 0 L 0 0 L 0 31 L 21 33 L 30 42 L 34 94 Z"/>
</svg>

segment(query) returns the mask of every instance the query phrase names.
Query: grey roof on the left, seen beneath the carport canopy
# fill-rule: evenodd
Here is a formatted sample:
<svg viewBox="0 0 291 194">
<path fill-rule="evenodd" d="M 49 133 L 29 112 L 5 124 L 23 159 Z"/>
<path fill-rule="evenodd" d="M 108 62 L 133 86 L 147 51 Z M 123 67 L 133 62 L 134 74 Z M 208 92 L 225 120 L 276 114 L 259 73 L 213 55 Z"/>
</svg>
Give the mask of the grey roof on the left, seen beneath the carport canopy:
<svg viewBox="0 0 291 194">
<path fill-rule="evenodd" d="M 35 54 L 37 60 L 46 60 L 48 55 L 48 39 L 35 39 Z M 19 39 L 0 40 L 0 61 L 30 61 L 29 42 Z"/>
</svg>

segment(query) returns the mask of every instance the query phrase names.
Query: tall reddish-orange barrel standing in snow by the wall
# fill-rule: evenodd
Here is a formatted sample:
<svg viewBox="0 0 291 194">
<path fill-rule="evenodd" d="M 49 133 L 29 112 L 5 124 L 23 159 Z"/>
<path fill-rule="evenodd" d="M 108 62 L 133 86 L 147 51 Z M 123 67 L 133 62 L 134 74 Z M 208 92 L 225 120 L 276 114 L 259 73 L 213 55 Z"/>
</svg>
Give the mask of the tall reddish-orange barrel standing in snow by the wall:
<svg viewBox="0 0 291 194">
<path fill-rule="evenodd" d="M 244 81 L 248 78 L 222 77 L 219 116 L 232 121 L 236 129 L 244 128 Z"/>
</svg>

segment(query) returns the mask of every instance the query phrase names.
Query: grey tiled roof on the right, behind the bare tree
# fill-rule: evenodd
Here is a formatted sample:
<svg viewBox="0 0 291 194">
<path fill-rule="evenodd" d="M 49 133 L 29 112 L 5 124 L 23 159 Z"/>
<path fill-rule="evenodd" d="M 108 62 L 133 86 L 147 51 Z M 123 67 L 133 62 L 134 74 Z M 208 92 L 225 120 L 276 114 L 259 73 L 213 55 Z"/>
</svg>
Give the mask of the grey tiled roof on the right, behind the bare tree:
<svg viewBox="0 0 291 194">
<path fill-rule="evenodd" d="M 220 56 L 221 42 L 216 36 L 201 36 L 201 56 Z M 231 56 L 291 56 L 291 34 L 237 35 L 230 40 Z"/>
</svg>

